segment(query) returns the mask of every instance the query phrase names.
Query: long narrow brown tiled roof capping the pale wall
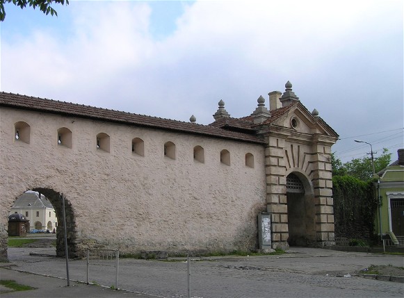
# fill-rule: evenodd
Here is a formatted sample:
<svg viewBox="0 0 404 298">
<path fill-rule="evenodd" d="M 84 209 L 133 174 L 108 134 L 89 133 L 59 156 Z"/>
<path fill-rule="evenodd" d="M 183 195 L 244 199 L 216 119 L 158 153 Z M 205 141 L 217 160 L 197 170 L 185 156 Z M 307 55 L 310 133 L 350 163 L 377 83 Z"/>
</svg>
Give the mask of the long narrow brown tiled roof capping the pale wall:
<svg viewBox="0 0 404 298">
<path fill-rule="evenodd" d="M 181 133 L 207 135 L 213 138 L 225 138 L 229 140 L 264 144 L 262 138 L 253 133 L 245 133 L 245 131 L 229 131 L 213 125 L 180 122 L 177 120 L 138 115 L 118 110 L 95 108 L 92 106 L 72 104 L 65 101 L 54 101 L 51 99 L 41 99 L 20 94 L 0 92 L 0 106 L 21 108 L 24 110 L 37 110 L 45 113 L 97 119 L 107 122 L 117 122 L 120 124 L 177 131 Z M 245 126 L 245 128 L 248 129 L 248 126 Z"/>
</svg>

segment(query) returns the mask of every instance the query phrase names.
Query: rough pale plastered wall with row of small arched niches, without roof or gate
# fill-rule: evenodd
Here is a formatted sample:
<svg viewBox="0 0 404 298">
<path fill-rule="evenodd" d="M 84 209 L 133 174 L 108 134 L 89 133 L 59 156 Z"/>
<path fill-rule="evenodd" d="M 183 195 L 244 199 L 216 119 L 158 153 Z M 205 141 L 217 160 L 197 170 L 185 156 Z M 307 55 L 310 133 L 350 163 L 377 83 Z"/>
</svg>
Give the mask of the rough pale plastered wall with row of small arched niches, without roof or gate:
<svg viewBox="0 0 404 298">
<path fill-rule="evenodd" d="M 16 122 L 31 126 L 29 144 L 15 140 Z M 63 127 L 72 131 L 72 148 L 58 145 Z M 99 133 L 109 135 L 109 152 L 97 149 Z M 144 141 L 144 156 L 131 151 L 133 138 Z M 164 156 L 168 141 L 175 144 L 175 160 Z M 193 158 L 197 145 L 204 163 Z M 220 163 L 223 149 L 230 166 Z M 245 165 L 247 153 L 253 168 Z M 1 107 L 0 156 L 3 256 L 8 212 L 26 190 L 51 192 L 53 202 L 64 194 L 72 254 L 83 255 L 86 247 L 134 253 L 257 246 L 257 214 L 266 210 L 261 145 Z M 58 251 L 60 237 L 59 229 Z"/>
</svg>

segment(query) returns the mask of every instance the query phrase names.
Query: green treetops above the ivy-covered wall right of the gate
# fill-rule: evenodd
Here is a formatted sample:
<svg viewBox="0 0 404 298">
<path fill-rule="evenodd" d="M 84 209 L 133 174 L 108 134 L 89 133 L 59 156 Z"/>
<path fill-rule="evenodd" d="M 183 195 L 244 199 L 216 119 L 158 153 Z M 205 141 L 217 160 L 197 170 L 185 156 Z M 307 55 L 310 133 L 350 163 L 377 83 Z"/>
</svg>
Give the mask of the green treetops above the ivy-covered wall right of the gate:
<svg viewBox="0 0 404 298">
<path fill-rule="evenodd" d="M 387 149 L 383 149 L 382 154 L 380 154 L 379 157 L 374 158 L 376 174 L 389 165 L 391 154 L 388 152 L 389 151 Z M 331 163 L 332 176 L 348 175 L 362 181 L 369 181 L 372 179 L 373 166 L 371 158 L 353 158 L 353 160 L 343 164 L 339 158 L 336 158 L 334 154 L 332 154 Z"/>
</svg>

